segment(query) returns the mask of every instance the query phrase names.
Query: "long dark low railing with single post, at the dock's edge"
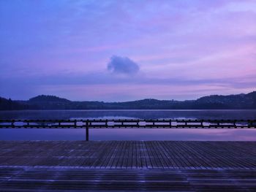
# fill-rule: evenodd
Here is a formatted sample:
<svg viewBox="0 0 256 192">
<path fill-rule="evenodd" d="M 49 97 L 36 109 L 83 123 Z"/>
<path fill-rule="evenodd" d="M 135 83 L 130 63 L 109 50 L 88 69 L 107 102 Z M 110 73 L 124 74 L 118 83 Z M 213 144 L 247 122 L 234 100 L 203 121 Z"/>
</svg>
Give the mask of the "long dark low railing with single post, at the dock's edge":
<svg viewBox="0 0 256 192">
<path fill-rule="evenodd" d="M 80 119 L 0 120 L 0 128 L 256 128 L 256 120 Z"/>
</svg>

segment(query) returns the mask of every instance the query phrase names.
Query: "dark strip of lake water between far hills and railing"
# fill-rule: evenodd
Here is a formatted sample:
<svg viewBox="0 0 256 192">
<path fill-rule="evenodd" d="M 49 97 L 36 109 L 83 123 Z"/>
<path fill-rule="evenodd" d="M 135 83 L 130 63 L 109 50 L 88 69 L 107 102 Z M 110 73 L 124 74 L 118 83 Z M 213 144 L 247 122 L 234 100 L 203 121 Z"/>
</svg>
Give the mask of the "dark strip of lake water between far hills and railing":
<svg viewBox="0 0 256 192">
<path fill-rule="evenodd" d="M 82 119 L 82 118 L 189 118 L 256 119 L 256 110 L 21 110 L 1 111 L 1 119 Z"/>
</svg>

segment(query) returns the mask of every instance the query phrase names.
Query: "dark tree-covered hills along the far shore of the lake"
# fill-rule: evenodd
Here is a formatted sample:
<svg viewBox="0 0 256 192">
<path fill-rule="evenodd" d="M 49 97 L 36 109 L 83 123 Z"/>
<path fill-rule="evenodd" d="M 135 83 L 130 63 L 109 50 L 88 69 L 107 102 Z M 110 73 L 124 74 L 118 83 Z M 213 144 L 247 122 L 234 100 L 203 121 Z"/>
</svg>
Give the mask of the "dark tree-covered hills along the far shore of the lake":
<svg viewBox="0 0 256 192">
<path fill-rule="evenodd" d="M 142 99 L 138 101 L 69 101 L 40 95 L 27 101 L 0 97 L 0 110 L 255 110 L 256 91 L 237 95 L 211 95 L 196 100 Z"/>
</svg>

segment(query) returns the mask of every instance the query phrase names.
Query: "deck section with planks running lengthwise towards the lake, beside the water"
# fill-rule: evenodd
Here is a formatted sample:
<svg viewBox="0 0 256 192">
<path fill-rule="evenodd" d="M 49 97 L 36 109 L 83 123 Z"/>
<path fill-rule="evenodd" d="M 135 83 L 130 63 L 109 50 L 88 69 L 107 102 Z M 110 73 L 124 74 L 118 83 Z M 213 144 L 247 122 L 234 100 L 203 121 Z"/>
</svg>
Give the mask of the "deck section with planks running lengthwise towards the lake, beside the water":
<svg viewBox="0 0 256 192">
<path fill-rule="evenodd" d="M 0 166 L 256 169 L 256 142 L 0 141 Z"/>
</svg>

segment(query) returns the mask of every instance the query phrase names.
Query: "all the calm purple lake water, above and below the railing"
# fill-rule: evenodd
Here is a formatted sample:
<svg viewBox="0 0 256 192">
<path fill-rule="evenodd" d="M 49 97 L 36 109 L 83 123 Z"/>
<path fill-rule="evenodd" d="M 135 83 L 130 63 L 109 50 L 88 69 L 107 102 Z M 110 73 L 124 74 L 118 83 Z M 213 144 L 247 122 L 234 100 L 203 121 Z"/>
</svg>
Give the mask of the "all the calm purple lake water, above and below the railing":
<svg viewBox="0 0 256 192">
<path fill-rule="evenodd" d="M 256 110 L 69 110 L 1 111 L 1 119 L 173 118 L 256 119 Z M 1 140 L 82 140 L 85 129 L 0 129 Z M 91 140 L 256 141 L 256 129 L 90 129 Z"/>
</svg>

